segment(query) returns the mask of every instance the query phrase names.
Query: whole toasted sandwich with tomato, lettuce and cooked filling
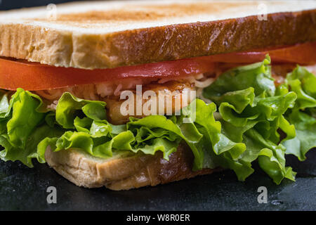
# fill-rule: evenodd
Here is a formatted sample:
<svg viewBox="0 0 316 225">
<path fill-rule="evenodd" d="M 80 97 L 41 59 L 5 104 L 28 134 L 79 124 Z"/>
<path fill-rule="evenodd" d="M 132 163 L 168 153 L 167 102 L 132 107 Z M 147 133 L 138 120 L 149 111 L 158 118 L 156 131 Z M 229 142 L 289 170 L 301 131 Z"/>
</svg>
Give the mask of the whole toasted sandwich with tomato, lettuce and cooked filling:
<svg viewBox="0 0 316 225">
<path fill-rule="evenodd" d="M 128 190 L 316 146 L 315 1 L 87 1 L 0 13 L 0 158 Z M 211 175 L 209 175 L 211 176 Z M 207 179 L 208 176 L 204 176 Z"/>
</svg>

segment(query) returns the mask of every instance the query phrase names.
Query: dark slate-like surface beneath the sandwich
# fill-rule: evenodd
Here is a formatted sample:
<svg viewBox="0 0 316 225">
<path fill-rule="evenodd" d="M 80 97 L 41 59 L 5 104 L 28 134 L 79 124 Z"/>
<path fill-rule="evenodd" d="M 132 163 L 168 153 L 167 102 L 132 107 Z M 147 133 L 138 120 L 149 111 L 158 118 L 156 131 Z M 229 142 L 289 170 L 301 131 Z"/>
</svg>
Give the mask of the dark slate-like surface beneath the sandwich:
<svg viewBox="0 0 316 225">
<path fill-rule="evenodd" d="M 258 172 L 245 182 L 225 171 L 131 191 L 80 188 L 47 165 L 1 161 L 0 210 L 316 210 L 316 151 L 307 156 L 287 157 L 297 179 L 279 186 L 254 165 Z M 57 189 L 56 204 L 46 201 L 48 186 Z M 268 188 L 267 204 L 257 202 L 259 186 Z"/>
</svg>

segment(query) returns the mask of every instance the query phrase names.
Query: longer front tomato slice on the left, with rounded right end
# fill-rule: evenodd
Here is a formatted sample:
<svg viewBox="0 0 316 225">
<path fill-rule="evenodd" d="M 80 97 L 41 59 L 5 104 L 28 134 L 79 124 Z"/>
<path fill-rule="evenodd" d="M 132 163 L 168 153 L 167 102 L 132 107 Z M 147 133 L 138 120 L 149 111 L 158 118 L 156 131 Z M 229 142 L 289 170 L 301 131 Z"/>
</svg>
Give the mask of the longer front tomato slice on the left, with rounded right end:
<svg viewBox="0 0 316 225">
<path fill-rule="evenodd" d="M 0 58 L 0 89 L 16 90 L 20 87 L 29 91 L 39 91 L 80 84 L 98 84 L 133 77 L 183 77 L 185 75 L 196 75 L 213 71 L 214 69 L 215 63 L 211 63 L 205 58 L 149 63 L 103 70 L 61 68 Z"/>
</svg>

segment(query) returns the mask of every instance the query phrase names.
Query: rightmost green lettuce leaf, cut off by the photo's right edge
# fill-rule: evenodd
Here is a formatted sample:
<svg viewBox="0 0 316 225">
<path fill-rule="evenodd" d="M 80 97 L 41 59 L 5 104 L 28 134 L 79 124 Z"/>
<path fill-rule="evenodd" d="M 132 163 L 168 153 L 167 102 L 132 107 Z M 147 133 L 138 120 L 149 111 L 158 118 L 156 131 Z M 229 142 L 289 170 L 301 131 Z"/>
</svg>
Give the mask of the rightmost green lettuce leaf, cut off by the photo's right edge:
<svg viewBox="0 0 316 225">
<path fill-rule="evenodd" d="M 298 98 L 286 117 L 294 124 L 296 136 L 284 141 L 287 154 L 296 155 L 298 160 L 305 160 L 308 150 L 316 147 L 316 77 L 305 68 L 297 66 L 287 75 L 286 84 Z"/>
</svg>

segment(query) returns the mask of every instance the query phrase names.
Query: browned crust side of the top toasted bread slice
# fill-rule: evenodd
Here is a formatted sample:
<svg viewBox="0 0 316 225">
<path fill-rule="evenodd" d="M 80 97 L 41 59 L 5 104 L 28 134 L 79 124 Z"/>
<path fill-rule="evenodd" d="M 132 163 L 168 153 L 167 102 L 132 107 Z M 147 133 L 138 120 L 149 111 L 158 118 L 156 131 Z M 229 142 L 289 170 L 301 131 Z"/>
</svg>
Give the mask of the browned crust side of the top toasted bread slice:
<svg viewBox="0 0 316 225">
<path fill-rule="evenodd" d="M 30 23 L 0 24 L 0 56 L 96 69 L 316 41 L 316 9 L 85 34 Z"/>
</svg>

